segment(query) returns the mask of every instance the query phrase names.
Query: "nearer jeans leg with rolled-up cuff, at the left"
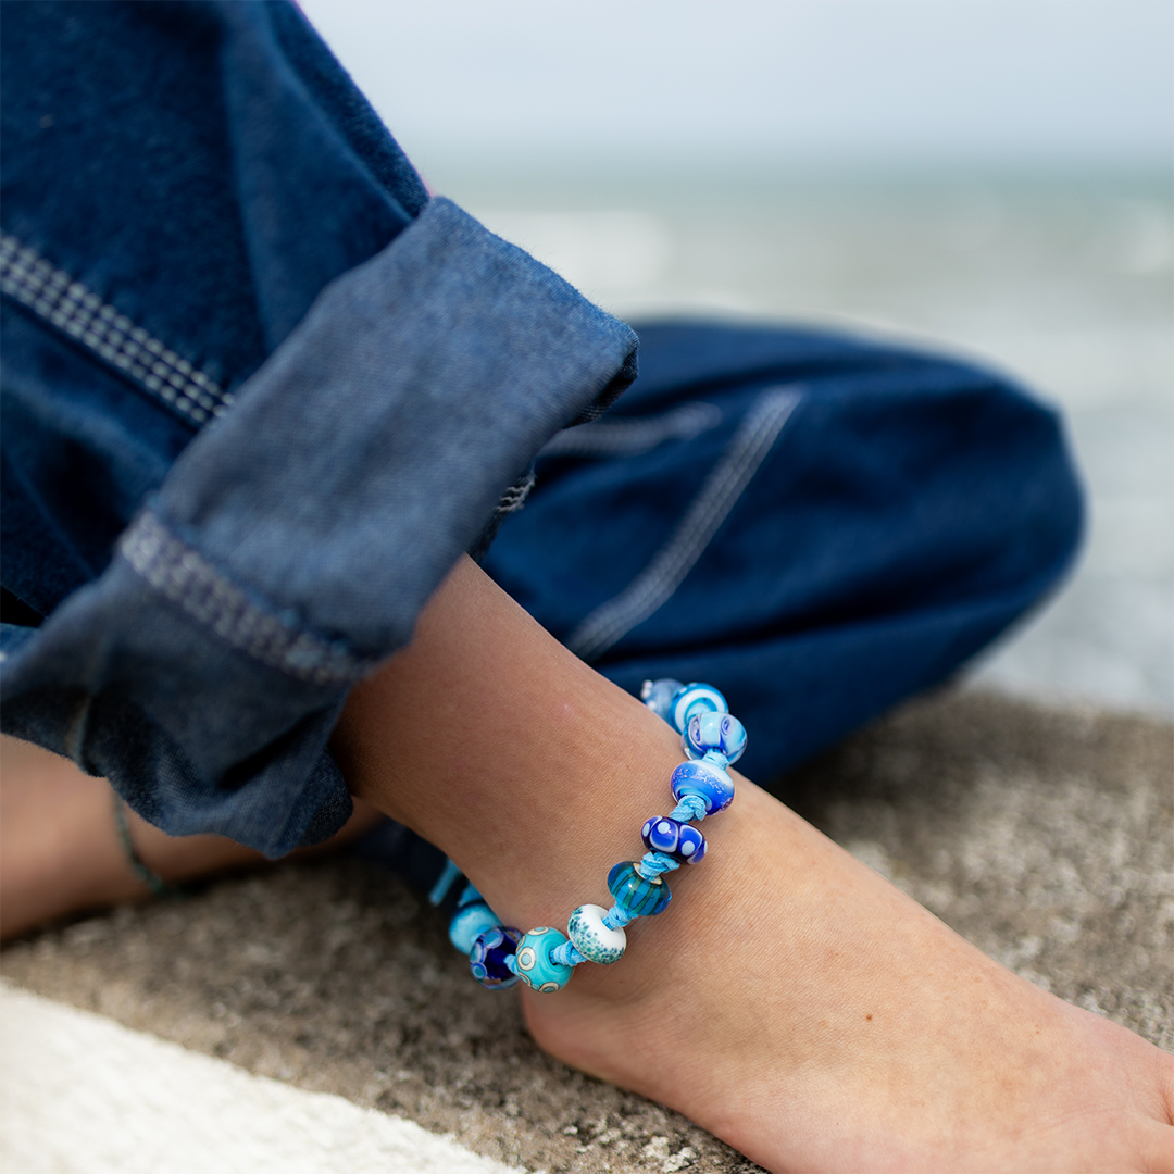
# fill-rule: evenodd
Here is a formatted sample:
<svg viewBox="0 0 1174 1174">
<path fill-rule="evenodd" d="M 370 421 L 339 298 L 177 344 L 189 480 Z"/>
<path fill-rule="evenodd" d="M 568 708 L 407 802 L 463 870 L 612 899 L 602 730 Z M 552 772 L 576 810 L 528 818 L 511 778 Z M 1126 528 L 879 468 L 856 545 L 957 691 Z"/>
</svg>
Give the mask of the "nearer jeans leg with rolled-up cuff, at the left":
<svg viewBox="0 0 1174 1174">
<path fill-rule="evenodd" d="M 319 841 L 348 690 L 635 336 L 430 200 L 288 0 L 43 0 L 0 62 L 0 729 Z"/>
</svg>

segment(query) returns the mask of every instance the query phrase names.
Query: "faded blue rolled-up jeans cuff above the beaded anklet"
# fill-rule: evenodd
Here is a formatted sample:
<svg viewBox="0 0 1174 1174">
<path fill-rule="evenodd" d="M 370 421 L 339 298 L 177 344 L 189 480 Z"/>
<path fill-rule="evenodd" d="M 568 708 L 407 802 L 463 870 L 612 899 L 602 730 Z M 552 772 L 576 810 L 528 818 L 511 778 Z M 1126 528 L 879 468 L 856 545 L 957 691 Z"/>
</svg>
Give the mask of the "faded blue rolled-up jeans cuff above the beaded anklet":
<svg viewBox="0 0 1174 1174">
<path fill-rule="evenodd" d="M 119 555 L 0 666 L 5 727 L 151 823 L 278 856 L 351 807 L 326 740 L 636 339 L 445 200 L 330 284 Z"/>
</svg>

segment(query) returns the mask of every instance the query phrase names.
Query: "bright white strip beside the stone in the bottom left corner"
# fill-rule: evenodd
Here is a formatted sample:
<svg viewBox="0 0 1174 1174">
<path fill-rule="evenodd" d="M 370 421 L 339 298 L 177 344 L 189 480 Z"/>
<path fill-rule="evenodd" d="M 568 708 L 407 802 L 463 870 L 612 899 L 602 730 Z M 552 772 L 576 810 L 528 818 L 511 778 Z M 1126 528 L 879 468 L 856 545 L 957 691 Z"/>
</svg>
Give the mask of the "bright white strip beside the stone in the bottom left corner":
<svg viewBox="0 0 1174 1174">
<path fill-rule="evenodd" d="M 412 1121 L 0 983 L 6 1174 L 508 1174 Z"/>
</svg>

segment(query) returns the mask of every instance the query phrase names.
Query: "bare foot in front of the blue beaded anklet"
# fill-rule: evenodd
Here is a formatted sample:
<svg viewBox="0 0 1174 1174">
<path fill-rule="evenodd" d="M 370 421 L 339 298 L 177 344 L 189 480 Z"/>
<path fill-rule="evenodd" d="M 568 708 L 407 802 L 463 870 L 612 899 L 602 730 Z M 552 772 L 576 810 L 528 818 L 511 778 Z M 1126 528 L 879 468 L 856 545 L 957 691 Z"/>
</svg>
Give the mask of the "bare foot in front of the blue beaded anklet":
<svg viewBox="0 0 1174 1174">
<path fill-rule="evenodd" d="M 704 828 L 706 861 L 619 964 L 524 991 L 540 1046 L 778 1174 L 1174 1172 L 1174 1058 L 1004 970 L 749 783 Z"/>
</svg>

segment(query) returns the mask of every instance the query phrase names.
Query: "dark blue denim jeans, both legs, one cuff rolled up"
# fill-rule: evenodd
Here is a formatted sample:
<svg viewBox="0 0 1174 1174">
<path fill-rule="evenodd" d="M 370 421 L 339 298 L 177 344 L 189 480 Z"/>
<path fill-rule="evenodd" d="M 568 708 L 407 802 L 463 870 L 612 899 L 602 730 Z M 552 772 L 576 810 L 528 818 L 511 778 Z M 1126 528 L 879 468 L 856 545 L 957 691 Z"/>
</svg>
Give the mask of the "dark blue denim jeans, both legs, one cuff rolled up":
<svg viewBox="0 0 1174 1174">
<path fill-rule="evenodd" d="M 1066 565 L 1055 418 L 831 335 L 635 335 L 429 200 L 288 0 L 45 0 L 0 42 L 0 729 L 281 855 L 463 549 L 627 687 L 710 679 L 772 772 Z M 539 456 L 541 454 L 541 456 Z"/>
</svg>

